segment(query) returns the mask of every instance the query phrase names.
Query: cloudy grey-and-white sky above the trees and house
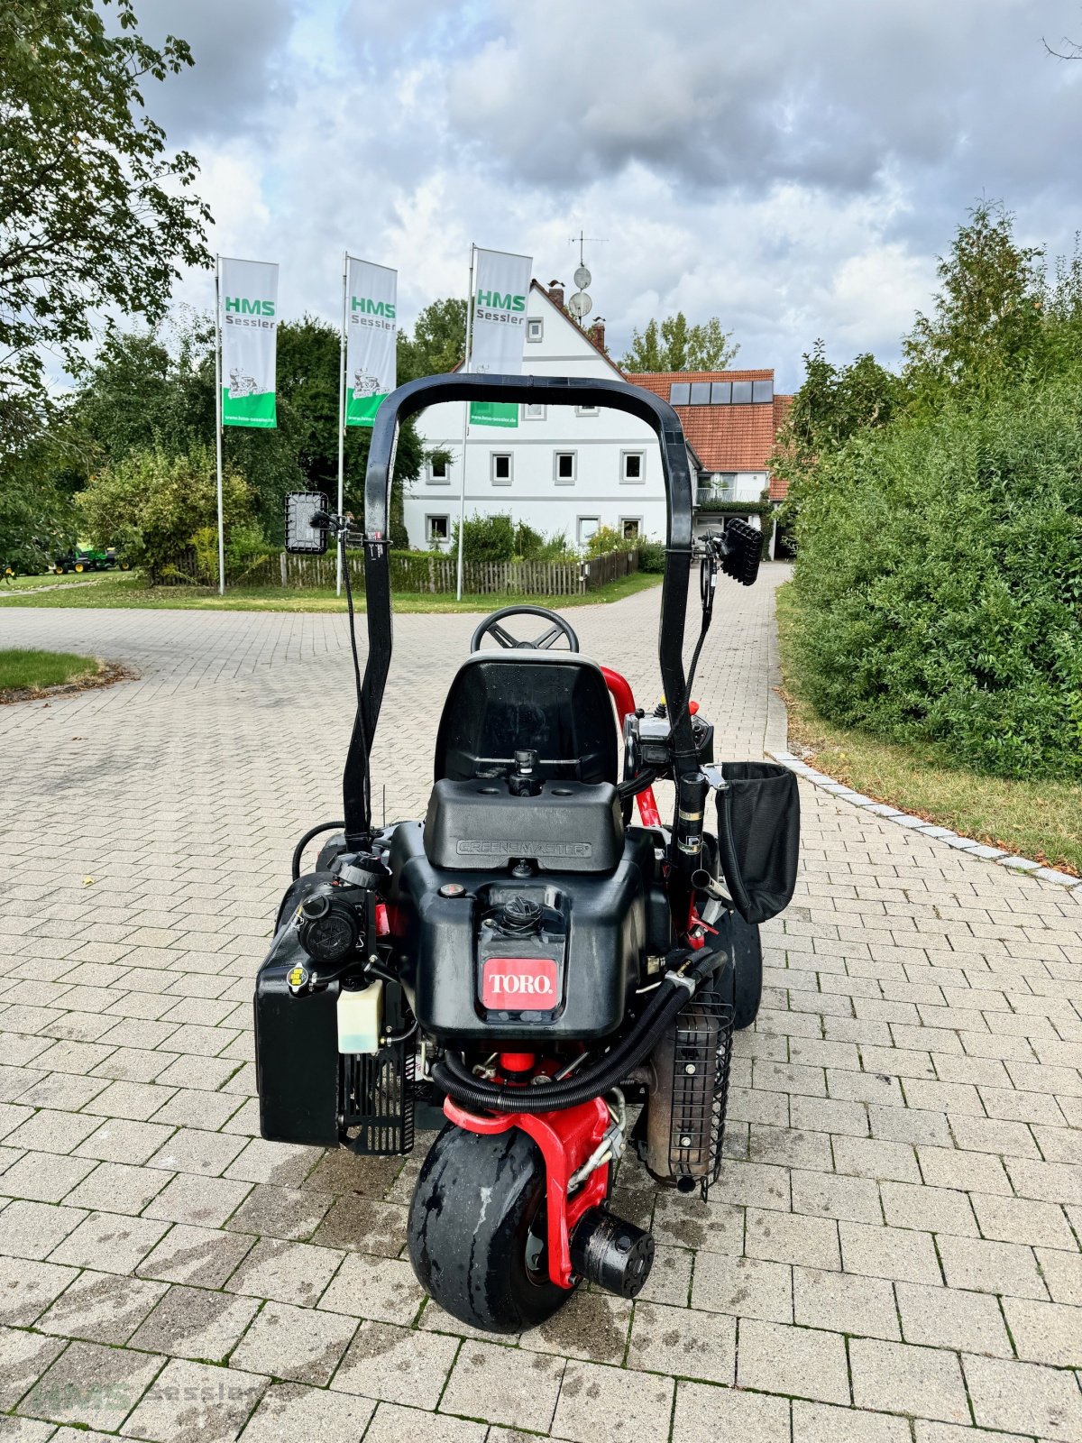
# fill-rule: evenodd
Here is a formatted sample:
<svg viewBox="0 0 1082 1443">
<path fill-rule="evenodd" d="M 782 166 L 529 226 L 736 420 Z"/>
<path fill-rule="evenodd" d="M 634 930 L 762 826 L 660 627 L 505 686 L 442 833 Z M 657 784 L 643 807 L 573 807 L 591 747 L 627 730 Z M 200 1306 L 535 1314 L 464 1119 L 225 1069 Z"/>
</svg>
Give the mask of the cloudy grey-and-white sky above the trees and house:
<svg viewBox="0 0 1082 1443">
<path fill-rule="evenodd" d="M 897 356 L 980 196 L 1050 254 L 1082 228 L 1082 0 L 141 0 L 195 69 L 150 87 L 201 160 L 212 248 L 281 263 L 333 319 L 345 248 L 410 325 L 465 294 L 470 241 L 594 313 L 721 317 L 799 384 L 817 336 Z M 186 276 L 177 299 L 209 306 Z"/>
</svg>

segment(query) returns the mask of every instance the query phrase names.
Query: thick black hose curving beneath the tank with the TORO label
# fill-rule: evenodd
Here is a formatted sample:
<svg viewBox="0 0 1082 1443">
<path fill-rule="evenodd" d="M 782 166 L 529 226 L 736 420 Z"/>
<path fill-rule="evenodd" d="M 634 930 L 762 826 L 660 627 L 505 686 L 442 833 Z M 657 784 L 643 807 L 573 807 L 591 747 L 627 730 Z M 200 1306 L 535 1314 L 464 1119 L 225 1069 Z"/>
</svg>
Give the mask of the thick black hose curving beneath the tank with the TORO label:
<svg viewBox="0 0 1082 1443">
<path fill-rule="evenodd" d="M 486 1113 L 557 1113 L 579 1102 L 589 1102 L 617 1087 L 632 1068 L 649 1056 L 698 983 L 718 965 L 718 961 L 717 954 L 707 954 L 687 977 L 667 973 L 630 1033 L 584 1076 L 544 1087 L 502 1087 L 476 1078 L 459 1058 L 449 1053 L 441 1062 L 434 1063 L 433 1081 L 463 1107 Z"/>
</svg>

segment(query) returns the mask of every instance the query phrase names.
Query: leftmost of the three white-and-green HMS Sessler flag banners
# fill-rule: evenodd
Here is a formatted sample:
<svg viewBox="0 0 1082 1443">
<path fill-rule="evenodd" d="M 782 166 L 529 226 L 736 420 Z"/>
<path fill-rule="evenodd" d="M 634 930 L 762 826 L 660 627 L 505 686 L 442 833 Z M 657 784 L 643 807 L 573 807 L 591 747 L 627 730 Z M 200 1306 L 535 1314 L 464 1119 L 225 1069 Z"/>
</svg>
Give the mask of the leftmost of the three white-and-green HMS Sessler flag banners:
<svg viewBox="0 0 1082 1443">
<path fill-rule="evenodd" d="M 222 426 L 278 424 L 274 358 L 278 267 L 222 257 Z"/>
</svg>

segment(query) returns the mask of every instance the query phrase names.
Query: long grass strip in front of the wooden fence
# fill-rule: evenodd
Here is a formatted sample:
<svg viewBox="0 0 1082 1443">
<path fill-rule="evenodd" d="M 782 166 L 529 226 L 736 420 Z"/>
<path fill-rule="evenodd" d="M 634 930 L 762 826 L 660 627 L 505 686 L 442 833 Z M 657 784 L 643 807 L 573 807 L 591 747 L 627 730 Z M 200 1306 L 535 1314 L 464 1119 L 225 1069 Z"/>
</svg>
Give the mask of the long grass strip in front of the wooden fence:
<svg viewBox="0 0 1082 1443">
<path fill-rule="evenodd" d="M 36 580 L 36 579 L 35 579 Z M 397 612 L 495 612 L 501 606 L 532 605 L 548 606 L 561 612 L 568 606 L 593 606 L 599 602 L 619 602 L 625 596 L 659 586 L 661 576 L 654 573 L 635 571 L 599 586 L 584 596 L 463 596 L 459 602 L 454 596 L 433 595 L 431 592 L 395 592 L 392 593 L 394 609 Z M 3 597 L 7 596 L 7 600 Z M 364 592 L 353 590 L 353 603 L 358 610 L 365 609 Z M 325 587 L 293 589 L 281 586 L 252 586 L 226 587 L 225 596 L 202 586 L 157 586 L 143 584 L 138 574 L 108 576 L 94 586 L 79 586 L 71 589 L 56 589 L 50 592 L 35 592 L 33 587 L 22 590 L 0 587 L 0 612 L 6 606 L 120 606 L 120 608 L 149 608 L 154 610 L 208 610 L 208 612 L 343 612 L 346 609 L 345 596 L 338 597 Z"/>
</svg>

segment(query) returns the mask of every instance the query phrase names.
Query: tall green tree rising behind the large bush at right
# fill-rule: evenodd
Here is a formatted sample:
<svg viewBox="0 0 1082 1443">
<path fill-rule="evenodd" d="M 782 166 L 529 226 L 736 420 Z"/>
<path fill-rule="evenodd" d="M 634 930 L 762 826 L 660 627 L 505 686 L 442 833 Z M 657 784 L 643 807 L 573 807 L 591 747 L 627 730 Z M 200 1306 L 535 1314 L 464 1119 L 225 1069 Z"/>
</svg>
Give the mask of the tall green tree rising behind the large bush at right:
<svg viewBox="0 0 1082 1443">
<path fill-rule="evenodd" d="M 944 391 L 995 385 L 1039 346 L 1044 303 L 1042 247 L 1019 245 L 1014 216 L 981 201 L 958 227 L 936 274 L 931 316 L 918 315 L 903 342 L 915 392 L 935 407 Z"/>
</svg>

